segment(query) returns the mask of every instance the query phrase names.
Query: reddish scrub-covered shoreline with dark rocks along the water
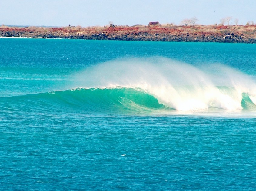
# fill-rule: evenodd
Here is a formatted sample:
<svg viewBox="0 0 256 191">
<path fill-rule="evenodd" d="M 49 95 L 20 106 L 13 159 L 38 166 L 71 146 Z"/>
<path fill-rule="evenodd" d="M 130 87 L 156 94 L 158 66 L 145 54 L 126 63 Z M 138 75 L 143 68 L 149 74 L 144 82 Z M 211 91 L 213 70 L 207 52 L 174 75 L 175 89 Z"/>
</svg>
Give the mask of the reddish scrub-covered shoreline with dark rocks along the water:
<svg viewBox="0 0 256 191">
<path fill-rule="evenodd" d="M 120 41 L 256 43 L 256 25 L 135 25 L 86 27 L 0 26 L 0 37 Z"/>
</svg>

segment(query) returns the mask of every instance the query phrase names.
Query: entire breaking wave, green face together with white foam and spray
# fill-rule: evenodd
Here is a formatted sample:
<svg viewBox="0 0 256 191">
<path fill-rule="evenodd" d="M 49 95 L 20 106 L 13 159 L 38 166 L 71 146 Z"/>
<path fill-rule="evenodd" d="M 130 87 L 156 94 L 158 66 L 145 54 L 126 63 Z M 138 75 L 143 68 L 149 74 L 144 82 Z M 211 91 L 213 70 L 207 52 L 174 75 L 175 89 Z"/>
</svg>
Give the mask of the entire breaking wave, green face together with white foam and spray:
<svg viewBox="0 0 256 191">
<path fill-rule="evenodd" d="M 2 97 L 5 110 L 31 108 L 101 114 L 256 111 L 252 76 L 221 64 L 165 58 L 106 62 L 72 76 L 75 89 Z"/>
</svg>

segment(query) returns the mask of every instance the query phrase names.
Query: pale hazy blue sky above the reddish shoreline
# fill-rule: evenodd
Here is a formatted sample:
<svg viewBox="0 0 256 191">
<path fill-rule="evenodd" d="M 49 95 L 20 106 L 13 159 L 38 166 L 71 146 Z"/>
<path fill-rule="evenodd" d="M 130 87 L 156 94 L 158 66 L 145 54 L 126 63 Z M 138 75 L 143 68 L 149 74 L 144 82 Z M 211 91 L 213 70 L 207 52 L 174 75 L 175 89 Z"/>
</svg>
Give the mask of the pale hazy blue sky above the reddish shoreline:
<svg viewBox="0 0 256 191">
<path fill-rule="evenodd" d="M 0 0 L 0 25 L 179 25 L 193 16 L 202 25 L 219 24 L 227 16 L 245 25 L 256 23 L 255 10 L 256 0 Z"/>
</svg>

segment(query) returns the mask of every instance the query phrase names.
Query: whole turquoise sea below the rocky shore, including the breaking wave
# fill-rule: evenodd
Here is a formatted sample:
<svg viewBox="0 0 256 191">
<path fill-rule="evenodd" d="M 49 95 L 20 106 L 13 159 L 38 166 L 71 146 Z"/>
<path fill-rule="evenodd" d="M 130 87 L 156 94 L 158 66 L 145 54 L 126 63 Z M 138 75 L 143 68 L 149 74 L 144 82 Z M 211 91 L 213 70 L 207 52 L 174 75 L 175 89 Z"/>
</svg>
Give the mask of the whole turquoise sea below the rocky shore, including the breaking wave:
<svg viewBox="0 0 256 191">
<path fill-rule="evenodd" d="M 255 190 L 256 44 L 0 38 L 3 190 Z"/>
</svg>

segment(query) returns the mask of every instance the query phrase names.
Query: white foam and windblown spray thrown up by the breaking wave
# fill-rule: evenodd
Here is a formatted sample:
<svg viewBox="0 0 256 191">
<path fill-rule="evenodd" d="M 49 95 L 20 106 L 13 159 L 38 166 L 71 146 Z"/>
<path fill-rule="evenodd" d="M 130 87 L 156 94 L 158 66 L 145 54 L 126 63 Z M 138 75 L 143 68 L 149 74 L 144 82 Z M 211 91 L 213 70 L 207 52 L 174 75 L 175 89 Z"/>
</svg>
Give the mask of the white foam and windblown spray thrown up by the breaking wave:
<svg viewBox="0 0 256 191">
<path fill-rule="evenodd" d="M 77 87 L 141 88 L 176 110 L 241 110 L 242 94 L 256 96 L 255 81 L 233 68 L 214 64 L 200 68 L 167 58 L 115 60 L 76 75 Z"/>
</svg>

